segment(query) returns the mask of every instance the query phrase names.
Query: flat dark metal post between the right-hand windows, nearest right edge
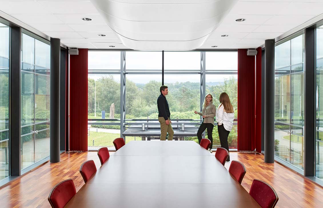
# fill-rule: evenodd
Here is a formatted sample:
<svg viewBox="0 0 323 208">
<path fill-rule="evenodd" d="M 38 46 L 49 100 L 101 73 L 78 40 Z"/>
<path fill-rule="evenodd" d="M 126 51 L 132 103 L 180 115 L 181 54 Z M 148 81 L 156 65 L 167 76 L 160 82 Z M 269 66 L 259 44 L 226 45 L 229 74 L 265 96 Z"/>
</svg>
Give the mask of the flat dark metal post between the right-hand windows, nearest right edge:
<svg viewBox="0 0 323 208">
<path fill-rule="evenodd" d="M 315 155 L 315 28 L 305 29 L 304 175 L 314 176 Z"/>
</svg>

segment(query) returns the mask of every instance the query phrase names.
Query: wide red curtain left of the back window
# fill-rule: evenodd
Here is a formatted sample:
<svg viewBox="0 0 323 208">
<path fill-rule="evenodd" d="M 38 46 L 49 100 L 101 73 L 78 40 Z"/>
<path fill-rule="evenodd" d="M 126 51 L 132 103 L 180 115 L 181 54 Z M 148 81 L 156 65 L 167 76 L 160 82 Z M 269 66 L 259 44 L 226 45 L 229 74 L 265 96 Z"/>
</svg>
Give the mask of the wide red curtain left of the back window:
<svg viewBox="0 0 323 208">
<path fill-rule="evenodd" d="M 88 151 L 88 49 L 70 55 L 69 150 Z"/>
</svg>

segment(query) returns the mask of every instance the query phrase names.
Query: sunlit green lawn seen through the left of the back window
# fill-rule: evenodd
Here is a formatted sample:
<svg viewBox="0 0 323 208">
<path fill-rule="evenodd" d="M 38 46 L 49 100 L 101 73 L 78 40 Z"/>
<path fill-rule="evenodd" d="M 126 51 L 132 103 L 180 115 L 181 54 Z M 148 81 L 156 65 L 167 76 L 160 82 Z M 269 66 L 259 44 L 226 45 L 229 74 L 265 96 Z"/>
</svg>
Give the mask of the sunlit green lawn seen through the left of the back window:
<svg viewBox="0 0 323 208">
<path fill-rule="evenodd" d="M 90 135 L 88 136 L 88 146 L 93 145 L 93 139 L 94 139 L 94 146 L 107 146 L 107 145 L 113 146 L 112 141 L 115 138 L 119 138 L 119 137 L 120 137 L 120 134 L 90 131 Z M 126 137 L 126 143 L 133 140 L 135 140 L 135 137 Z M 141 137 L 136 137 L 136 140 L 141 140 Z"/>
</svg>

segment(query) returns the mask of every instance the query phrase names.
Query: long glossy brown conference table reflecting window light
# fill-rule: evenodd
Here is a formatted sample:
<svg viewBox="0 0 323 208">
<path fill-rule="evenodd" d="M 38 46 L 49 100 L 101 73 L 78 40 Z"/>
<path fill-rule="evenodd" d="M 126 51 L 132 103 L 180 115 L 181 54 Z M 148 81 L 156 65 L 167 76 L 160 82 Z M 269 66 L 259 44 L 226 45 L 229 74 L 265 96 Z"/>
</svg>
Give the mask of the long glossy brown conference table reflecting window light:
<svg viewBox="0 0 323 208">
<path fill-rule="evenodd" d="M 98 168 L 65 207 L 260 207 L 194 141 L 130 141 Z"/>
</svg>

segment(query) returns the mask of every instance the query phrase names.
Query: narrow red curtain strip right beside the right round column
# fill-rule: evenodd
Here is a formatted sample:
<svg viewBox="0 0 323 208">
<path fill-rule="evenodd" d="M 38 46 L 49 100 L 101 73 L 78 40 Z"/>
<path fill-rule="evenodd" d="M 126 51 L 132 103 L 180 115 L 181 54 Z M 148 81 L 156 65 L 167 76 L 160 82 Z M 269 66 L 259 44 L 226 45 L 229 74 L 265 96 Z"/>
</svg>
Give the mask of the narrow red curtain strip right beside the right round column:
<svg viewBox="0 0 323 208">
<path fill-rule="evenodd" d="M 261 47 L 256 55 L 255 139 L 256 151 L 261 153 Z"/>
</svg>

